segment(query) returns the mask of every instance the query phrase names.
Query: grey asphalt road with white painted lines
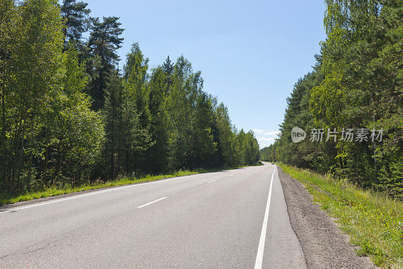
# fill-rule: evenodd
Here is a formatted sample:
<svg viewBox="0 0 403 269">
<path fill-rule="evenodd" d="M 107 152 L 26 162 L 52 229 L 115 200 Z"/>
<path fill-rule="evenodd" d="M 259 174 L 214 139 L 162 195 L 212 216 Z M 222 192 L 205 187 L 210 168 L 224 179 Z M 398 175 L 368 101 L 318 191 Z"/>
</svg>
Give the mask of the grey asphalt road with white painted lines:
<svg viewBox="0 0 403 269">
<path fill-rule="evenodd" d="M 306 268 L 275 165 L 0 209 L 0 267 Z"/>
</svg>

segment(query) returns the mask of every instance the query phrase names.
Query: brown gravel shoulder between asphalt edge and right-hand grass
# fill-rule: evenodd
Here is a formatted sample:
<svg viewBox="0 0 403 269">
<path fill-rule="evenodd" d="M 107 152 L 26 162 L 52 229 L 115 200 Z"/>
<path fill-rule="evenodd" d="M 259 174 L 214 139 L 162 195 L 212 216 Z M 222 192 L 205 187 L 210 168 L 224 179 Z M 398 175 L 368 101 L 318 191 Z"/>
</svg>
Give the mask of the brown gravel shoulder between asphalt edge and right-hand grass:
<svg viewBox="0 0 403 269">
<path fill-rule="evenodd" d="M 291 226 L 305 255 L 308 268 L 379 268 L 369 257 L 357 256 L 334 219 L 327 216 L 304 186 L 278 166 Z"/>
</svg>

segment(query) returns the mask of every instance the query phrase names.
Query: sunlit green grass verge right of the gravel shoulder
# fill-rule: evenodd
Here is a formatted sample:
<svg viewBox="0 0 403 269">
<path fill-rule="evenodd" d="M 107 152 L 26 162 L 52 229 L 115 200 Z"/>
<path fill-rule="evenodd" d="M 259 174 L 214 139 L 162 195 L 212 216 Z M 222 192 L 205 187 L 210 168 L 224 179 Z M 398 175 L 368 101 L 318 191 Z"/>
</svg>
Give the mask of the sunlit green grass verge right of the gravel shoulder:
<svg viewBox="0 0 403 269">
<path fill-rule="evenodd" d="M 383 193 L 364 190 L 348 180 L 279 164 L 299 180 L 316 203 L 337 219 L 358 255 L 369 256 L 383 268 L 403 268 L 403 203 Z"/>
</svg>

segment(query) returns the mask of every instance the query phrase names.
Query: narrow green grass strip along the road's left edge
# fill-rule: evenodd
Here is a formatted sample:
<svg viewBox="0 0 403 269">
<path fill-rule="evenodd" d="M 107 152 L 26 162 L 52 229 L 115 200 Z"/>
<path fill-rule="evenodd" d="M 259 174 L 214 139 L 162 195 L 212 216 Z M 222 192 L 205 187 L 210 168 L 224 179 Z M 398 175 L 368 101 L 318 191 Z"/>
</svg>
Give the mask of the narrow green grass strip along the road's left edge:
<svg viewBox="0 0 403 269">
<path fill-rule="evenodd" d="M 246 166 L 242 166 L 246 167 Z M 37 191 L 37 192 L 29 192 L 23 195 L 17 195 L 17 196 L 10 196 L 10 195 L 1 195 L 0 196 L 0 205 L 9 205 L 9 204 L 14 204 L 19 201 L 29 201 L 29 200 L 34 200 L 34 199 L 39 199 L 39 198 L 46 198 L 46 197 L 51 197 L 51 196 L 57 196 L 57 195 L 62 195 L 62 194 L 68 194 L 68 193 L 73 193 L 73 192 L 80 192 L 80 191 L 86 191 L 86 190 L 91 190 L 91 189 L 99 189 L 99 188 L 106 188 L 106 187 L 112 187 L 112 186 L 119 186 L 119 185 L 129 185 L 129 184 L 136 184 L 136 183 L 142 183 L 142 182 L 149 182 L 149 181 L 156 181 L 156 180 L 161 180 L 165 178 L 172 178 L 172 177 L 178 177 L 178 176 L 186 176 L 186 175 L 192 175 L 192 174 L 200 174 L 200 173 L 208 173 L 208 172 L 217 172 L 217 171 L 222 171 L 222 170 L 231 170 L 231 169 L 237 169 L 241 167 L 224 167 L 224 168 L 216 168 L 216 169 L 197 169 L 193 171 L 178 171 L 172 174 L 166 174 L 166 175 L 146 175 L 146 176 L 141 176 L 141 177 L 122 177 L 118 178 L 113 181 L 108 181 L 108 182 L 97 182 L 93 184 L 87 184 L 87 185 L 81 185 L 79 187 L 66 187 L 66 188 L 56 188 L 56 187 L 50 187 L 47 188 L 43 191 Z"/>
</svg>

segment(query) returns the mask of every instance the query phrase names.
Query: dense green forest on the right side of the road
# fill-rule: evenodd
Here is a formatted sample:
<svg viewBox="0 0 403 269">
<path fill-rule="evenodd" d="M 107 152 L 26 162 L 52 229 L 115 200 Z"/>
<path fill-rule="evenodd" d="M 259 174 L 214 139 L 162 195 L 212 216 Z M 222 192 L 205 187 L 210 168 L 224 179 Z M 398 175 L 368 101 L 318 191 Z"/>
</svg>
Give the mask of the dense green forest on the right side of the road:
<svg viewBox="0 0 403 269">
<path fill-rule="evenodd" d="M 326 39 L 287 99 L 280 135 L 261 159 L 309 168 L 403 198 L 403 2 L 325 0 Z M 300 127 L 308 138 L 293 143 Z M 311 142 L 310 130 L 323 129 Z M 383 130 L 346 141 L 343 128 Z M 337 129 L 337 140 L 327 130 Z"/>
</svg>

